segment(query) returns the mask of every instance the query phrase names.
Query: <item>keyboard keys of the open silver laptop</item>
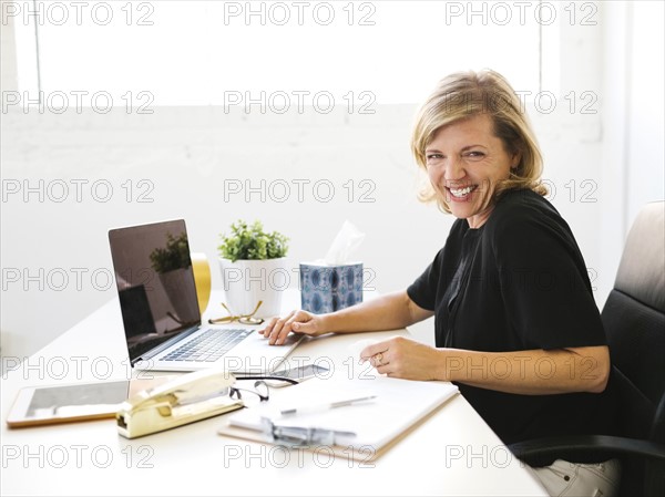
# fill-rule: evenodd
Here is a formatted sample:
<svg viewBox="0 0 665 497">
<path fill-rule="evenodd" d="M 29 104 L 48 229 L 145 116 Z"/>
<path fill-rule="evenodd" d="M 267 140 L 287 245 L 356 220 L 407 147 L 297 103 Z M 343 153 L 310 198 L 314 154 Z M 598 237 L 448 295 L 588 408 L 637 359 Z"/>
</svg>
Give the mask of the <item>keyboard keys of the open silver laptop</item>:
<svg viewBox="0 0 665 497">
<path fill-rule="evenodd" d="M 209 329 L 171 351 L 162 361 L 215 362 L 250 333 L 252 330 L 244 329 Z"/>
</svg>

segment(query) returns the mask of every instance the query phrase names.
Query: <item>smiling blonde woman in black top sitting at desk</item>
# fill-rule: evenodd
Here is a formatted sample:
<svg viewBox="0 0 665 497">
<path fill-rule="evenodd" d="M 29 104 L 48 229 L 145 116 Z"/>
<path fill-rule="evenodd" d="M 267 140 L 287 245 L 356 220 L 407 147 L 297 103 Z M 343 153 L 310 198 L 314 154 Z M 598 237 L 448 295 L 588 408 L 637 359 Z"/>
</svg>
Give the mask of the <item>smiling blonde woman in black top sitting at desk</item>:
<svg viewBox="0 0 665 497">
<path fill-rule="evenodd" d="M 411 148 L 429 177 L 422 198 L 458 218 L 433 262 L 406 291 L 329 314 L 294 311 L 264 335 L 280 344 L 290 332 L 434 315 L 436 348 L 397 338 L 361 358 L 389 376 L 454 382 L 505 444 L 611 433 L 610 353 L 586 266 L 543 198 L 541 154 L 512 87 L 492 71 L 448 76 L 420 110 Z M 556 462 L 536 473 L 553 495 L 574 475 L 593 480 L 589 495 L 608 495 L 617 469 Z"/>
</svg>

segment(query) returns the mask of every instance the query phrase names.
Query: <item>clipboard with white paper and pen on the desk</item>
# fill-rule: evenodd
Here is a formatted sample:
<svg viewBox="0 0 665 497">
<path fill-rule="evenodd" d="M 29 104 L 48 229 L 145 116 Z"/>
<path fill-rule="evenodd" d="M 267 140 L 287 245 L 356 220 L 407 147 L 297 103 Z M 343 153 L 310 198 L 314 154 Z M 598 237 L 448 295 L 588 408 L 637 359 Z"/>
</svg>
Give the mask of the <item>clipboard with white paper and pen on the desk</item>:
<svg viewBox="0 0 665 497">
<path fill-rule="evenodd" d="M 448 382 L 417 382 L 385 376 L 362 380 L 313 379 L 285 389 L 284 395 L 267 404 L 231 414 L 217 434 L 305 449 L 317 449 L 325 445 L 340 457 L 371 462 L 458 392 L 458 387 Z M 294 406 L 324 405 L 360 396 L 374 398 L 338 408 L 288 416 L 279 414 Z M 293 444 L 276 437 L 267 423 L 280 429 L 318 432 L 309 443 Z M 326 432 L 332 432 L 328 433 L 328 438 L 325 437 Z"/>
</svg>

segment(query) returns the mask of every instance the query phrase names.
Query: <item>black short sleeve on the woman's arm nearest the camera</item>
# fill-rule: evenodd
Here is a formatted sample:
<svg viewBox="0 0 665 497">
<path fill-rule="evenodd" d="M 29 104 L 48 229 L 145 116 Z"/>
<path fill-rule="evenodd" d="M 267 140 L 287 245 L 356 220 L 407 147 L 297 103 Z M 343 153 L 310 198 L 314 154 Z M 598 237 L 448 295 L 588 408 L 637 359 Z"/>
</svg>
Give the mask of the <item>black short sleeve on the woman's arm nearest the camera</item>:
<svg viewBox="0 0 665 497">
<path fill-rule="evenodd" d="M 504 219 L 492 234 L 511 328 L 534 349 L 606 343 L 586 267 L 559 216 Z"/>
</svg>

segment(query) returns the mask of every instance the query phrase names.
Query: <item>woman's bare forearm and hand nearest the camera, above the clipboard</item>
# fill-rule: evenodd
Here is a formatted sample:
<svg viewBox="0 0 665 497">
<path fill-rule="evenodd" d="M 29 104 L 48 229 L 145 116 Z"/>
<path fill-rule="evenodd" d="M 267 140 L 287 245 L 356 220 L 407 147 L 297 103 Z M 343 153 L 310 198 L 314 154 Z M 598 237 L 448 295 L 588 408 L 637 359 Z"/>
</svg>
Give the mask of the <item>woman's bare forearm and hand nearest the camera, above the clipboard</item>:
<svg viewBox="0 0 665 497">
<path fill-rule="evenodd" d="M 360 356 L 388 376 L 454 381 L 524 395 L 600 393 L 610 376 L 610 351 L 605 345 L 477 352 L 434 349 L 396 338 L 366 348 Z"/>
</svg>

